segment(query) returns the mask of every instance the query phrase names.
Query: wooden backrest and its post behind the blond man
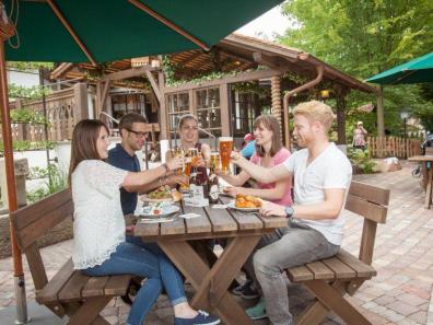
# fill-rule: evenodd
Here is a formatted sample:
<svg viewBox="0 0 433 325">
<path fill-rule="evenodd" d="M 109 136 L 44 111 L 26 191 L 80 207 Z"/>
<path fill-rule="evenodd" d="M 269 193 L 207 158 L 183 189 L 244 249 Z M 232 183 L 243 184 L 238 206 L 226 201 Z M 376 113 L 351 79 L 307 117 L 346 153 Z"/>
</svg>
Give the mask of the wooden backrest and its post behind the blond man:
<svg viewBox="0 0 433 325">
<path fill-rule="evenodd" d="M 371 265 L 377 223 L 386 222 L 389 189 L 352 181 L 346 209 L 364 217 L 359 258 Z"/>
</svg>

